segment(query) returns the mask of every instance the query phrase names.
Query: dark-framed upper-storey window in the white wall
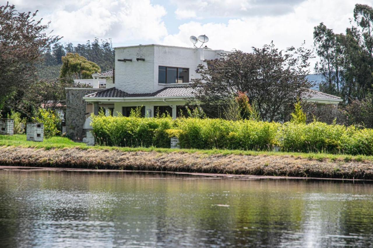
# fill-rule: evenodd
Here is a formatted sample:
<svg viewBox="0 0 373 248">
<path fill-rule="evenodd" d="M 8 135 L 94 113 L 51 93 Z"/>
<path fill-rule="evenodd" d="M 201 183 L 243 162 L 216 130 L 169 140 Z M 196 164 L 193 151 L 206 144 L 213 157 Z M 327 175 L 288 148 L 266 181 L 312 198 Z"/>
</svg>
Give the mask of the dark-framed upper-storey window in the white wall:
<svg viewBox="0 0 373 248">
<path fill-rule="evenodd" d="M 158 83 L 188 83 L 189 68 L 159 66 Z"/>
</svg>

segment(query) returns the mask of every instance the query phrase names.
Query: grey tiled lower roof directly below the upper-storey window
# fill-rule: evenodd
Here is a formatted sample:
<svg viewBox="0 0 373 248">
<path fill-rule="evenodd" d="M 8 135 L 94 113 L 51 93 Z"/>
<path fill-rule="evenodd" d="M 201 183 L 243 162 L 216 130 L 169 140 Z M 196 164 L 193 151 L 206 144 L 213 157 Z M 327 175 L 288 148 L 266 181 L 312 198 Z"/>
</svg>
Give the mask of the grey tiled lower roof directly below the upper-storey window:
<svg viewBox="0 0 373 248">
<path fill-rule="evenodd" d="M 166 87 L 153 93 L 134 93 L 129 94 L 116 88 L 109 88 L 91 93 L 85 97 L 112 98 L 112 97 L 172 97 L 172 96 L 194 96 L 193 89 L 190 87 Z"/>
</svg>

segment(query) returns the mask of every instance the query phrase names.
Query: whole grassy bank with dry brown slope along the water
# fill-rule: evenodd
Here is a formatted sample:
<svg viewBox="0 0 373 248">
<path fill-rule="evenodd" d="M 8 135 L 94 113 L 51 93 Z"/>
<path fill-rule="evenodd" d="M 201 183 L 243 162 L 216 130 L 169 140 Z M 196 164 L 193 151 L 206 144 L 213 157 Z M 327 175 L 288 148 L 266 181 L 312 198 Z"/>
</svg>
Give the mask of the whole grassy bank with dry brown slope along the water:
<svg viewBox="0 0 373 248">
<path fill-rule="evenodd" d="M 0 137 L 0 165 L 373 179 L 372 156 L 88 147 L 60 137 L 42 143 L 26 142 L 23 138 Z"/>
</svg>

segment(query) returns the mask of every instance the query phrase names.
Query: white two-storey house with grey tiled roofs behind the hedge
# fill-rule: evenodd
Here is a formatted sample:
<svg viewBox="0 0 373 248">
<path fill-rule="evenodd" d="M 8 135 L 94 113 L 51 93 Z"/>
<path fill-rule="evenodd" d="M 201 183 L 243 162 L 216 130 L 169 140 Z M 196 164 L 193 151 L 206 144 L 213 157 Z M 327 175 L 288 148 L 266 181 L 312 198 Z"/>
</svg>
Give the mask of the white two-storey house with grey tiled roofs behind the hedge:
<svg viewBox="0 0 373 248">
<path fill-rule="evenodd" d="M 169 112 L 173 118 L 185 103 L 194 98 L 191 79 L 198 78 L 195 72 L 204 60 L 220 58 L 220 53 L 230 53 L 209 48 L 187 48 L 165 45 L 138 45 L 115 48 L 115 71 L 106 77 L 105 90 L 83 98 L 93 105 L 105 108 L 107 114 L 122 113 L 128 116 L 131 109 L 142 107 L 142 115 L 154 117 L 156 112 Z M 94 80 L 104 73 L 93 74 Z M 108 83 L 108 80 L 111 80 Z M 308 90 L 302 96 L 307 101 L 319 104 L 335 104 L 342 101 L 337 96 L 316 90 Z"/>
</svg>

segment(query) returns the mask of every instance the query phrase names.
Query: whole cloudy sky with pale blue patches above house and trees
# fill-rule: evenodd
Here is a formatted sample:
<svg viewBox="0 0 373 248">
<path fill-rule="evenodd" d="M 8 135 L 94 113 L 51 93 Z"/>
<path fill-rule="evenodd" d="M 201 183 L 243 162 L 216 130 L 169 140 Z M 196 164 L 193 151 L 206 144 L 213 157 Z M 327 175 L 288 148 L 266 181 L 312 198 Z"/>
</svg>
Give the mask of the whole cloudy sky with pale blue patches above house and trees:
<svg viewBox="0 0 373 248">
<path fill-rule="evenodd" d="M 0 0 L 1 1 L 4 0 Z M 6 1 L 2 4 L 5 4 Z M 39 10 L 61 43 L 112 39 L 113 47 L 163 44 L 193 47 L 206 34 L 212 49 L 251 52 L 276 47 L 313 48 L 313 28 L 325 23 L 342 33 L 356 3 L 373 0 L 9 0 L 20 12 Z M 198 44 L 197 44 L 198 45 Z M 314 60 L 316 61 L 316 60 Z M 313 63 L 314 63 L 313 61 Z"/>
</svg>

